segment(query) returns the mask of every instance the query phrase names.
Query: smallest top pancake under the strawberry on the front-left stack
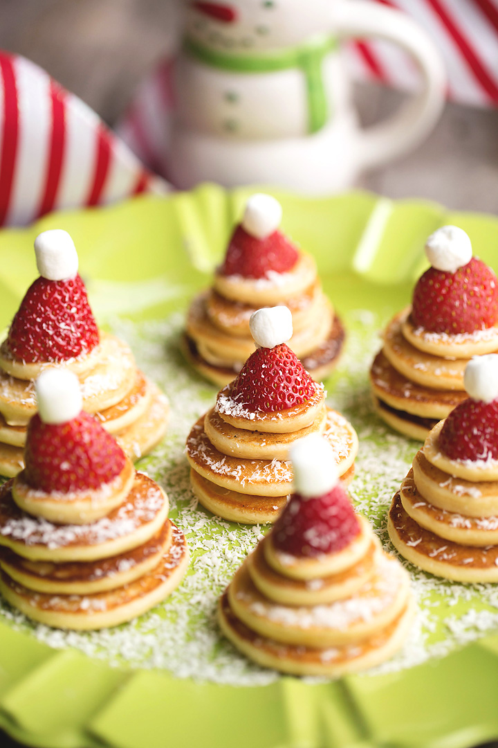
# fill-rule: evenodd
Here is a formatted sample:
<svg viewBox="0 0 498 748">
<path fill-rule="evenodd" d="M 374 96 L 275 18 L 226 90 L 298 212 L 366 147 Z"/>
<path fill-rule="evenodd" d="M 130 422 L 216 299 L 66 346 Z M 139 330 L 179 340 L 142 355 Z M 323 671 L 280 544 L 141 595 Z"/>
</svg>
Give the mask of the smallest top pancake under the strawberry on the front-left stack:
<svg viewBox="0 0 498 748">
<path fill-rule="evenodd" d="M 88 524 L 106 517 L 112 509 L 122 504 L 134 484 L 135 468 L 130 459 L 111 482 L 101 488 L 86 491 L 61 491 L 47 493 L 32 488 L 26 482 L 25 470 L 14 479 L 12 497 L 23 512 L 55 522 L 56 524 Z"/>
</svg>

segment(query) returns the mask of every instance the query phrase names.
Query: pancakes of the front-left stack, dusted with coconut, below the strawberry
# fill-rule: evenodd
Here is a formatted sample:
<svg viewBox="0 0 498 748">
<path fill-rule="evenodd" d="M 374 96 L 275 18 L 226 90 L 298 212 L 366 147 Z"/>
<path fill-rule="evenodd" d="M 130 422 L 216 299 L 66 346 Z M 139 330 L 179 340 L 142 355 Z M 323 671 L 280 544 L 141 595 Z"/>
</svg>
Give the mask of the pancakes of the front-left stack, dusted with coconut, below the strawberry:
<svg viewBox="0 0 498 748">
<path fill-rule="evenodd" d="M 77 472 L 78 463 L 57 470 Z M 164 491 L 129 458 L 111 482 L 83 491 L 34 488 L 25 473 L 0 488 L 0 592 L 13 607 L 49 626 L 98 629 L 133 619 L 178 586 L 184 535 L 168 519 Z"/>
</svg>

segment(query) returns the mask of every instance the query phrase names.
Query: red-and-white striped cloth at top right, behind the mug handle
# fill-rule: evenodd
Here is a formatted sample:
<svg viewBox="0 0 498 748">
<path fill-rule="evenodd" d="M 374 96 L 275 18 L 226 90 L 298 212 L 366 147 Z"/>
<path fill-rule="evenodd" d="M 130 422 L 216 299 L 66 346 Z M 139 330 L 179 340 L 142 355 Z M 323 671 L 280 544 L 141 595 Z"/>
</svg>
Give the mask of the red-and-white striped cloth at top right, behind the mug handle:
<svg viewBox="0 0 498 748">
<path fill-rule="evenodd" d="M 397 7 L 429 31 L 446 60 L 449 98 L 476 106 L 498 105 L 497 0 L 375 0 Z M 349 47 L 360 79 L 395 88 L 417 88 L 417 71 L 399 50 L 382 41 Z"/>
</svg>

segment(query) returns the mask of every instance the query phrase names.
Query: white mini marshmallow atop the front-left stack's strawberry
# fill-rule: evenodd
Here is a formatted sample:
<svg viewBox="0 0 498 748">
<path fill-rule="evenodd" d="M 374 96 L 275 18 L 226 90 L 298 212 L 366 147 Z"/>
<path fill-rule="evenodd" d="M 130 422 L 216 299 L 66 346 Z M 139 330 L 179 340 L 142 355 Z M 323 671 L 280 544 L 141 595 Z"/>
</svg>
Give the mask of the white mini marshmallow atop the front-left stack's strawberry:
<svg viewBox="0 0 498 748">
<path fill-rule="evenodd" d="M 37 378 L 35 390 L 43 423 L 66 423 L 81 413 L 80 383 L 68 369 L 46 369 Z"/>
</svg>

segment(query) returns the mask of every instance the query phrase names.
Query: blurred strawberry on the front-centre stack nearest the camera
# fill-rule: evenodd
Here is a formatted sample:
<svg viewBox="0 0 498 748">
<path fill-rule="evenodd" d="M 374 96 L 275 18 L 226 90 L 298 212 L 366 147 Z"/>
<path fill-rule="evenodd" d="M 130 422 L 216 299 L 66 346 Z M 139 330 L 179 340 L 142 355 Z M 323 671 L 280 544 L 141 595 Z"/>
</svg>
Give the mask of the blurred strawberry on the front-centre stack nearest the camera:
<svg viewBox="0 0 498 748">
<path fill-rule="evenodd" d="M 323 496 L 292 494 L 272 532 L 273 545 L 291 556 L 334 554 L 358 536 L 360 523 L 343 485 Z"/>
</svg>

